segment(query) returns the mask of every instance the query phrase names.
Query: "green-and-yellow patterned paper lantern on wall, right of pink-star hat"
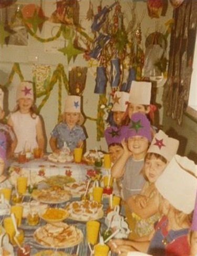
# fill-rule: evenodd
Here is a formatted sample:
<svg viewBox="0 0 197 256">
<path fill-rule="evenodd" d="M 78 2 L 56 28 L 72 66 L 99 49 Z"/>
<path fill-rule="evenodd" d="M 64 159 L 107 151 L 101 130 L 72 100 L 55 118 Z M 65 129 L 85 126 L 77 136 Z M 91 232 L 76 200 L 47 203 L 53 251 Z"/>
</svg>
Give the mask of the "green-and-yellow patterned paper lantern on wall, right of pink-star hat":
<svg viewBox="0 0 197 256">
<path fill-rule="evenodd" d="M 36 97 L 46 94 L 48 84 L 50 82 L 51 67 L 44 64 L 33 64 L 32 67 L 33 82 L 36 87 Z"/>
</svg>

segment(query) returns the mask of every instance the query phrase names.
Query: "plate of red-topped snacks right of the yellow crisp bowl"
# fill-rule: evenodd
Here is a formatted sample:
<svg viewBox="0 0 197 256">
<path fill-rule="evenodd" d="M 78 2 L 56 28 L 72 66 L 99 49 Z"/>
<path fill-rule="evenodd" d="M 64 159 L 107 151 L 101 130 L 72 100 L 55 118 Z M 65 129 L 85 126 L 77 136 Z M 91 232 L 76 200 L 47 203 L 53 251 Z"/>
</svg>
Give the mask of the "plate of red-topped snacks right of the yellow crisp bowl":
<svg viewBox="0 0 197 256">
<path fill-rule="evenodd" d="M 66 210 L 70 213 L 69 219 L 86 222 L 103 217 L 102 204 L 96 201 L 82 200 L 67 203 Z"/>
</svg>

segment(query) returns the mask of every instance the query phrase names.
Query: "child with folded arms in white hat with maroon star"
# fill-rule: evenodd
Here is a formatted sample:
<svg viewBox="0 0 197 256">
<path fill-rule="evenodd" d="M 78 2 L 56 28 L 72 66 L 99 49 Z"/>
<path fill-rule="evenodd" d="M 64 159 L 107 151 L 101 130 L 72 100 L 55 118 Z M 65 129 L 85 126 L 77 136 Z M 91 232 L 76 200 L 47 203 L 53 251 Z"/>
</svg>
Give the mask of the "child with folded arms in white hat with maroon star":
<svg viewBox="0 0 197 256">
<path fill-rule="evenodd" d="M 128 219 L 131 219 L 129 224 L 132 230 L 129 239 L 146 239 L 144 236 L 152 233 L 154 223 L 159 220 L 159 193 L 154 183 L 172 157 L 177 154 L 178 147 L 179 141 L 169 138 L 162 130 L 155 134 L 142 168 L 147 182 L 140 194 L 133 195 L 127 200 L 131 211 L 131 218 Z"/>
</svg>

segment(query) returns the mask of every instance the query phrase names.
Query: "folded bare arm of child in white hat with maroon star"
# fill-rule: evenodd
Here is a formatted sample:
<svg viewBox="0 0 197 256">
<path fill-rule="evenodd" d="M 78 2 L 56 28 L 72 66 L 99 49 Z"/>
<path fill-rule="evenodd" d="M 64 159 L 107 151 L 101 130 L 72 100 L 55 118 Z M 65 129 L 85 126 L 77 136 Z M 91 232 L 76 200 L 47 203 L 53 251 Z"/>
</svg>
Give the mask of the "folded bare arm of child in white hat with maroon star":
<svg viewBox="0 0 197 256">
<path fill-rule="evenodd" d="M 155 196 L 150 198 L 146 207 L 138 207 L 132 196 L 128 198 L 127 204 L 132 212 L 139 215 L 142 219 L 147 219 L 158 212 L 159 196 L 157 193 Z"/>
</svg>

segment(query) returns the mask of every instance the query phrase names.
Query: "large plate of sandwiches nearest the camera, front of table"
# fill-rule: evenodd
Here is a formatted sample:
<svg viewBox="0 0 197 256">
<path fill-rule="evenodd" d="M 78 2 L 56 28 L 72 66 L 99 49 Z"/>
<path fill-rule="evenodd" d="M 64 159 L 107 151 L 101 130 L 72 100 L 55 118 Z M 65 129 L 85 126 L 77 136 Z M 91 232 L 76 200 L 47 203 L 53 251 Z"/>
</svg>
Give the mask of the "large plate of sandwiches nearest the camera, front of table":
<svg viewBox="0 0 197 256">
<path fill-rule="evenodd" d="M 45 248 L 68 248 L 84 239 L 82 231 L 65 222 L 47 223 L 34 232 L 34 240 Z"/>
</svg>

